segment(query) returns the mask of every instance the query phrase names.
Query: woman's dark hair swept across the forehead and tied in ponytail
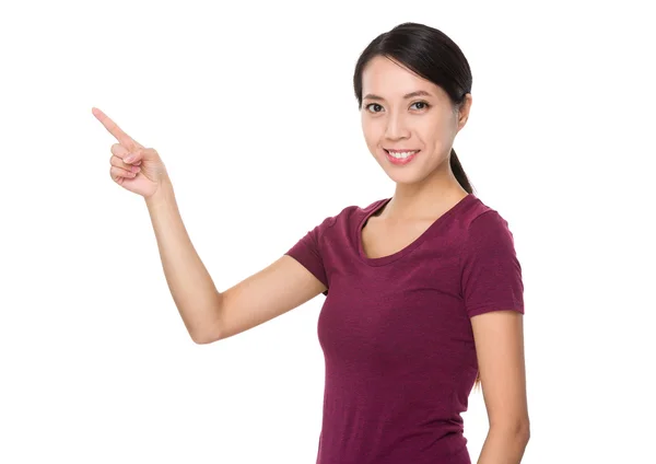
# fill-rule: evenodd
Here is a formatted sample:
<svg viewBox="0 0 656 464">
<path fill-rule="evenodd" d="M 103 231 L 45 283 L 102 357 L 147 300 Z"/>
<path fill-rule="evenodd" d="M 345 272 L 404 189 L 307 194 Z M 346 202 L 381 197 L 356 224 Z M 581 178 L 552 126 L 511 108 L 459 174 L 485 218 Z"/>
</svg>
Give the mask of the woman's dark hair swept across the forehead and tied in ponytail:
<svg viewBox="0 0 656 464">
<path fill-rule="evenodd" d="M 471 70 L 460 48 L 442 31 L 423 24 L 403 23 L 374 38 L 360 55 L 353 74 L 359 108 L 362 107 L 362 71 L 376 56 L 393 58 L 438 85 L 457 106 L 471 93 Z M 469 194 L 473 193 L 453 148 L 449 163 L 462 188 Z"/>
</svg>

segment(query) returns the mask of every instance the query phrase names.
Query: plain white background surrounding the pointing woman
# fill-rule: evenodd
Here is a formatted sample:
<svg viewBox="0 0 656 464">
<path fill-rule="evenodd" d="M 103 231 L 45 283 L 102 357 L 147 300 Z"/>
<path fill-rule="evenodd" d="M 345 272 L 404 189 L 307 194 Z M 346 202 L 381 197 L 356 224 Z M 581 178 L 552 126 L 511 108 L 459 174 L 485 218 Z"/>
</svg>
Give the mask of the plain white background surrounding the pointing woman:
<svg viewBox="0 0 656 464">
<path fill-rule="evenodd" d="M 225 290 L 394 193 L 352 73 L 405 21 L 445 32 L 472 68 L 455 148 L 524 269 L 523 462 L 656 462 L 656 36 L 641 4 L 3 3 L 0 462 L 315 462 L 324 297 L 195 345 L 91 108 L 163 156 Z M 476 462 L 480 391 L 464 417 Z"/>
</svg>

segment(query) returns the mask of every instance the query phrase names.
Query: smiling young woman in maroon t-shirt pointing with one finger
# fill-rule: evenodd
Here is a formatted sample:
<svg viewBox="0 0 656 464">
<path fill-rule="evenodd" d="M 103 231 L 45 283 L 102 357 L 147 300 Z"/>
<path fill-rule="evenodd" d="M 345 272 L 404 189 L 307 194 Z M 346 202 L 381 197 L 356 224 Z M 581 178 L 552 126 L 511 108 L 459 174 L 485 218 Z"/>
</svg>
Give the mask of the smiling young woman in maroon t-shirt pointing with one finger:
<svg viewBox="0 0 656 464">
<path fill-rule="evenodd" d="M 349 206 L 277 262 L 219 292 L 190 243 L 157 152 L 118 143 L 112 178 L 145 198 L 166 280 L 196 343 L 239 334 L 323 293 L 320 464 L 471 463 L 460 416 L 475 381 L 490 431 L 479 464 L 519 463 L 529 439 L 522 268 L 500 213 L 453 150 L 471 72 L 442 32 L 376 37 L 353 77 L 366 144 L 394 196 Z"/>
</svg>

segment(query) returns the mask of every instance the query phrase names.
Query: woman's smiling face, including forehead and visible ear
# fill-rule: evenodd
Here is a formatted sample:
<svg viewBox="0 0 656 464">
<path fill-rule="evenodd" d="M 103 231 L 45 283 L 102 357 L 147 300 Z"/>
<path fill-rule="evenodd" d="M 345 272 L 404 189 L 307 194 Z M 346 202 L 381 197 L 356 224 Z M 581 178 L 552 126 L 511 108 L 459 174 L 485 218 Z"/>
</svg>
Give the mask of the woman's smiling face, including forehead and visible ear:
<svg viewBox="0 0 656 464">
<path fill-rule="evenodd" d="M 454 138 L 467 121 L 470 95 L 458 112 L 442 88 L 383 56 L 364 68 L 362 95 L 366 144 L 393 181 L 413 184 L 448 169 Z"/>
</svg>

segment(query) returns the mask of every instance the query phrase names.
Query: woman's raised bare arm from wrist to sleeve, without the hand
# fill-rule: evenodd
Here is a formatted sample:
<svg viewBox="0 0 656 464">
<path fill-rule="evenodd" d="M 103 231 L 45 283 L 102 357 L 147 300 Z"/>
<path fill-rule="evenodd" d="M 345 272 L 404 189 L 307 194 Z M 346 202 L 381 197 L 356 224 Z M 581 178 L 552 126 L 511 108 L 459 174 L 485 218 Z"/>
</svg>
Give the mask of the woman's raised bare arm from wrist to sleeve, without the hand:
<svg viewBox="0 0 656 464">
<path fill-rule="evenodd" d="M 166 282 L 191 339 L 209 344 L 277 317 L 326 287 L 294 258 L 283 255 L 267 268 L 219 292 L 185 229 L 168 178 L 147 206 Z"/>
</svg>

